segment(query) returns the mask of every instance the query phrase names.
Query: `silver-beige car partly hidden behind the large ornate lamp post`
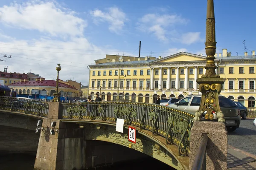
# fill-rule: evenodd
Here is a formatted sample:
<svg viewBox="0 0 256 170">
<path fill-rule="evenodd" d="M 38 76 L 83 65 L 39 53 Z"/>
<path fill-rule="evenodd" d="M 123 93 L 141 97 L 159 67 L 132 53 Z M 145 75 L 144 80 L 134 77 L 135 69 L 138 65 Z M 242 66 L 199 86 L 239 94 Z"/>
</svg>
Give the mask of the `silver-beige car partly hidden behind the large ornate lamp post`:
<svg viewBox="0 0 256 170">
<path fill-rule="evenodd" d="M 219 104 L 222 113 L 224 114 L 224 119 L 226 120 L 225 124 L 228 131 L 236 130 L 239 127 L 241 117 L 239 113 L 238 106 L 227 97 L 218 96 Z M 195 115 L 195 112 L 198 111 L 201 102 L 200 95 L 191 95 L 186 96 L 174 104 L 168 105 L 168 107 L 186 111 Z M 204 115 L 203 115 L 204 116 Z"/>
</svg>

